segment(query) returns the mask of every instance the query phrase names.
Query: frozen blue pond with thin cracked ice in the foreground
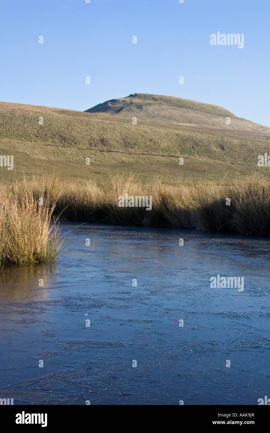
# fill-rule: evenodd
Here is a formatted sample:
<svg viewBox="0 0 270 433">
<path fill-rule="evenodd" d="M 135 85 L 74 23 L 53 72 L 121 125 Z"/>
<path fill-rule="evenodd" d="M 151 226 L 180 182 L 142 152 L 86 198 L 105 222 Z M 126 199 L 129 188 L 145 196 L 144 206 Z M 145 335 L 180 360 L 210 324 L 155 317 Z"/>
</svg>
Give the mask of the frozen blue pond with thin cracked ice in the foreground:
<svg viewBox="0 0 270 433">
<path fill-rule="evenodd" d="M 0 272 L 0 398 L 242 405 L 270 396 L 269 239 L 78 224 L 61 223 L 70 243 L 57 262 Z M 244 277 L 244 290 L 211 288 L 217 275 Z"/>
</svg>

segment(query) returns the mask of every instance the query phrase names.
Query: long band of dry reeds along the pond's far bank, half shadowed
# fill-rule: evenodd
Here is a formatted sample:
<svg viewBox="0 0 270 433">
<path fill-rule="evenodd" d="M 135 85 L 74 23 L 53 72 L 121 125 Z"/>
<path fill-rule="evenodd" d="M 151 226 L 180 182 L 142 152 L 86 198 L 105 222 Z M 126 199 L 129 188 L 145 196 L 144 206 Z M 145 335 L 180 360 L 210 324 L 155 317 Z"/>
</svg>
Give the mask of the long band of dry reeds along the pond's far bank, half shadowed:
<svg viewBox="0 0 270 433">
<path fill-rule="evenodd" d="M 270 182 L 258 174 L 230 183 L 198 184 L 159 179 L 144 184 L 133 175 L 112 176 L 101 186 L 95 180 L 69 182 L 45 176 L 21 185 L 17 188 L 29 189 L 35 200 L 45 195 L 54 213 L 69 220 L 270 235 Z M 152 210 L 119 207 L 118 197 L 126 193 L 152 196 Z"/>
</svg>

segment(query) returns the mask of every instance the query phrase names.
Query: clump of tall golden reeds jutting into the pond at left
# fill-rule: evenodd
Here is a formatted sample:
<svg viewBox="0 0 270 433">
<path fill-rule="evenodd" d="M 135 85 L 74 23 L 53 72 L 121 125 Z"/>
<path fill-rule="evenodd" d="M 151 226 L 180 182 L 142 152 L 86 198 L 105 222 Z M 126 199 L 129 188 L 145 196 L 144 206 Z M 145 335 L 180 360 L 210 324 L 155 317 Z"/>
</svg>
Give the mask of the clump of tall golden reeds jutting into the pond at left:
<svg viewBox="0 0 270 433">
<path fill-rule="evenodd" d="M 62 242 L 55 207 L 53 183 L 15 182 L 0 186 L 0 265 L 52 262 Z M 43 204 L 39 206 L 39 198 Z M 53 221 L 53 222 L 52 222 Z"/>
</svg>

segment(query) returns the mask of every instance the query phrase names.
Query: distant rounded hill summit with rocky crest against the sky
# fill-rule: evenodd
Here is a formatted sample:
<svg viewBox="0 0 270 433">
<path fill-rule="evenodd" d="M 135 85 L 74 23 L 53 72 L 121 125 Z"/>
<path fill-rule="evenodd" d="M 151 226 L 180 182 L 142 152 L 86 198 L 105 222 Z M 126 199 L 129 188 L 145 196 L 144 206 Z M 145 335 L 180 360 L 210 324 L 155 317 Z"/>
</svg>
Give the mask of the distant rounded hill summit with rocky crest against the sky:
<svg viewBox="0 0 270 433">
<path fill-rule="evenodd" d="M 173 96 L 134 93 L 105 101 L 85 111 L 125 118 L 135 116 L 138 121 L 270 132 L 267 126 L 241 119 L 218 105 Z"/>
</svg>

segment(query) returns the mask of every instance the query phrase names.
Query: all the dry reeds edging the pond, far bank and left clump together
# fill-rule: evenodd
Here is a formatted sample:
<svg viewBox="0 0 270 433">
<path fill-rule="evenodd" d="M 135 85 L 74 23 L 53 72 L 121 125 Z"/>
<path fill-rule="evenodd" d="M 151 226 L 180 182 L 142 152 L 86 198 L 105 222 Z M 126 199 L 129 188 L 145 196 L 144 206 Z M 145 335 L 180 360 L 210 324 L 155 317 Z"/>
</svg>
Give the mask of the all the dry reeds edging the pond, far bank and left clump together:
<svg viewBox="0 0 270 433">
<path fill-rule="evenodd" d="M 152 210 L 118 207 L 125 194 L 152 196 Z M 39 207 L 42 197 L 44 205 Z M 230 198 L 231 205 L 226 205 Z M 155 180 L 145 185 L 133 176 L 95 181 L 62 181 L 42 176 L 0 187 L 0 261 L 52 261 L 59 252 L 52 215 L 80 221 L 166 226 L 270 236 L 270 183 L 260 175 L 226 184 Z"/>
</svg>

